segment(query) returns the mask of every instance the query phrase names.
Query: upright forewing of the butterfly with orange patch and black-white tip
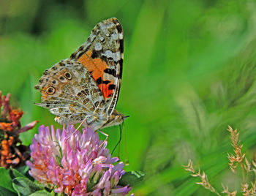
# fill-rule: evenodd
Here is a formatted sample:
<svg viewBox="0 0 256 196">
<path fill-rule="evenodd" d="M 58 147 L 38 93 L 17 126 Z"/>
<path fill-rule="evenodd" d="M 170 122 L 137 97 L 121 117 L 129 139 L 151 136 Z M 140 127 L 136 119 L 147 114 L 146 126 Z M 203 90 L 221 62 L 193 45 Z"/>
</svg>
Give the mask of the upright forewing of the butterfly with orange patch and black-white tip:
<svg viewBox="0 0 256 196">
<path fill-rule="evenodd" d="M 72 53 L 70 59 L 79 61 L 89 70 L 102 91 L 107 113 L 116 108 L 124 58 L 121 24 L 116 18 L 98 23 L 86 42 Z"/>
</svg>

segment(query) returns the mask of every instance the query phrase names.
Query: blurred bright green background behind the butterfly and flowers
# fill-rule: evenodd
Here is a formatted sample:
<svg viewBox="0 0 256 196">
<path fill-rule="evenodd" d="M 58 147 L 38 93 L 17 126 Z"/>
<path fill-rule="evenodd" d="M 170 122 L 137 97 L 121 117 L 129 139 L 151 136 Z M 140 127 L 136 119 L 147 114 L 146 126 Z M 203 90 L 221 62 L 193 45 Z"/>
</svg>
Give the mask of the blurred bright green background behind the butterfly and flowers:
<svg viewBox="0 0 256 196">
<path fill-rule="evenodd" d="M 146 173 L 132 192 L 212 195 L 184 171 L 189 159 L 220 192 L 222 182 L 239 189 L 228 167 L 233 149 L 226 129 L 238 129 L 246 157 L 254 159 L 255 1 L 0 0 L 0 89 L 26 112 L 23 125 L 39 120 L 61 127 L 34 105 L 40 100 L 34 85 L 85 42 L 96 23 L 112 17 L 124 29 L 117 109 L 131 116 L 125 121 L 126 170 Z M 21 135 L 24 143 L 31 143 L 37 127 Z M 104 131 L 112 150 L 119 129 Z"/>
</svg>

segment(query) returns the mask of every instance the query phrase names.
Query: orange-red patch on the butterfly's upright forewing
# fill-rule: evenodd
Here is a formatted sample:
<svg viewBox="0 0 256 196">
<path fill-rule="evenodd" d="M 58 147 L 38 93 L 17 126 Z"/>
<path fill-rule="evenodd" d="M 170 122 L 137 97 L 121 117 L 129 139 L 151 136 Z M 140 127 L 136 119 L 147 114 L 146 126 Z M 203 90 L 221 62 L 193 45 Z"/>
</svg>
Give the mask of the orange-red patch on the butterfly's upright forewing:
<svg viewBox="0 0 256 196">
<path fill-rule="evenodd" d="M 102 91 L 104 98 L 109 98 L 113 94 L 114 84 L 110 80 L 103 80 L 104 70 L 108 68 L 108 64 L 100 58 L 91 58 L 91 55 L 92 52 L 89 50 L 83 54 L 78 61 L 91 72 L 91 75 L 98 84 L 100 91 Z"/>
</svg>

